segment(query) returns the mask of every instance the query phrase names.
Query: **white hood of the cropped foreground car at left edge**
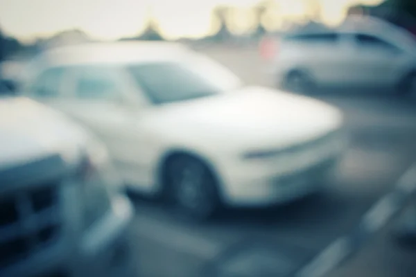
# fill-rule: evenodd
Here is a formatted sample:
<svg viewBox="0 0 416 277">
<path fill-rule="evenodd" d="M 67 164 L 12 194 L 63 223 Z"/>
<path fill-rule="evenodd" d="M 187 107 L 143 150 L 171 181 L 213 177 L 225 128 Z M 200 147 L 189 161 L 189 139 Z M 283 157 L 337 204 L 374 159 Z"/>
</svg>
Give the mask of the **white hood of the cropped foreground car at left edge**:
<svg viewBox="0 0 416 277">
<path fill-rule="evenodd" d="M 64 116 L 27 98 L 0 98 L 0 168 L 61 154 L 72 163 L 86 134 Z"/>
</svg>

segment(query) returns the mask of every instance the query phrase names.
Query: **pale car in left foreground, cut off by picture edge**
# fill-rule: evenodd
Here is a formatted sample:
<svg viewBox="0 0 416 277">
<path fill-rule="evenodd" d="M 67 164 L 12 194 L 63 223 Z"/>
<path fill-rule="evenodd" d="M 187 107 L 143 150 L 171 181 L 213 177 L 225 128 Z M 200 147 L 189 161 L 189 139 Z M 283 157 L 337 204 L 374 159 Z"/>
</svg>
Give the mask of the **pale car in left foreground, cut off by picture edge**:
<svg viewBox="0 0 416 277">
<path fill-rule="evenodd" d="M 0 98 L 0 276 L 125 276 L 133 209 L 105 148 L 58 112 Z"/>
</svg>

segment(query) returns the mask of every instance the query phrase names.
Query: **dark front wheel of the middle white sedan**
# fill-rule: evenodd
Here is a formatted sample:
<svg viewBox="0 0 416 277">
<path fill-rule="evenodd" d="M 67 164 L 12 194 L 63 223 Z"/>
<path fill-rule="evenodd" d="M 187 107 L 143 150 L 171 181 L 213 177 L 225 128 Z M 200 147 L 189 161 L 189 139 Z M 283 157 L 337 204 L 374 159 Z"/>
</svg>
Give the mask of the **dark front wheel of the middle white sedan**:
<svg viewBox="0 0 416 277">
<path fill-rule="evenodd" d="M 187 154 L 169 159 L 165 180 L 166 196 L 179 215 L 200 221 L 209 219 L 218 211 L 218 182 L 200 159 Z"/>
</svg>

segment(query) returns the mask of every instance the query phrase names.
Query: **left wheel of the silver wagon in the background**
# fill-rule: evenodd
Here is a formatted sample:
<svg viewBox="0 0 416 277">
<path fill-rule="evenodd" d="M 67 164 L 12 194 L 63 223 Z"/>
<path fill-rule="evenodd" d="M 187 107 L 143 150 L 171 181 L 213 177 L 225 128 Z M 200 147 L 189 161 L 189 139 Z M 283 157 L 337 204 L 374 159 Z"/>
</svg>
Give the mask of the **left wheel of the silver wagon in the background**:
<svg viewBox="0 0 416 277">
<path fill-rule="evenodd" d="M 315 92 L 315 82 L 302 71 L 291 71 L 284 78 L 283 88 L 294 93 L 310 94 Z"/>
</svg>

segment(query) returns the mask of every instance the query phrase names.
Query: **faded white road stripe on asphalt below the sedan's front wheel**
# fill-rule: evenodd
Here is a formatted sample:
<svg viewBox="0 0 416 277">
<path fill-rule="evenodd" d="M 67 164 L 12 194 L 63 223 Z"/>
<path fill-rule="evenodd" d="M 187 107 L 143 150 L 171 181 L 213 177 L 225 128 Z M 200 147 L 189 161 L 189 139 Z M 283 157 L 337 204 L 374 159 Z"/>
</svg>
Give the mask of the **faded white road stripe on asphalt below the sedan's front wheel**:
<svg viewBox="0 0 416 277">
<path fill-rule="evenodd" d="M 187 253 L 198 258 L 211 259 L 218 255 L 221 244 L 207 238 L 198 237 L 186 229 L 177 228 L 159 220 L 139 217 L 135 221 L 134 232 L 141 238 L 159 242 L 164 247 Z"/>
</svg>

